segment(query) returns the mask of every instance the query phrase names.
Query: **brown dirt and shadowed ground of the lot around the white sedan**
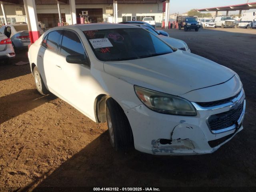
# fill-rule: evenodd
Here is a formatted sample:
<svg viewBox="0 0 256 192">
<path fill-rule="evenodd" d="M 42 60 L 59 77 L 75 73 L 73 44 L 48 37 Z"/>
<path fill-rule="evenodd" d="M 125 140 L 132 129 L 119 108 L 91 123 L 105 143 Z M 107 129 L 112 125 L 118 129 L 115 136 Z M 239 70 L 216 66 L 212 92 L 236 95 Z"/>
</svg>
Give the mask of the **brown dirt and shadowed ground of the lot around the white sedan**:
<svg viewBox="0 0 256 192">
<path fill-rule="evenodd" d="M 27 60 L 21 52 L 12 64 L 0 64 L 0 191 L 256 186 L 256 30 L 167 31 L 193 53 L 240 75 L 247 100 L 242 132 L 213 154 L 118 154 L 106 124 L 92 122 L 52 94 L 38 94 L 29 65 L 14 65 Z"/>
</svg>

